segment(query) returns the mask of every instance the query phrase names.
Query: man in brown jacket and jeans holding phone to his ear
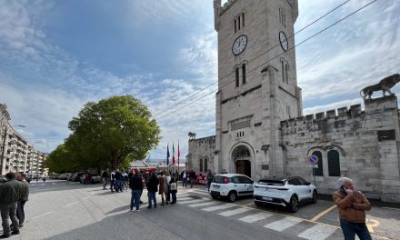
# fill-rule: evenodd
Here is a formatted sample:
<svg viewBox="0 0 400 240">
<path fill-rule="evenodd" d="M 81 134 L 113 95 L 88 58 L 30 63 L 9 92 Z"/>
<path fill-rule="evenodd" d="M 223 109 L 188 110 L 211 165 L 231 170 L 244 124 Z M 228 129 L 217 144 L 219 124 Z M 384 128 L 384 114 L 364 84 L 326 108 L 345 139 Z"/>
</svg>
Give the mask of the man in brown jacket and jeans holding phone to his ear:
<svg viewBox="0 0 400 240">
<path fill-rule="evenodd" d="M 355 190 L 350 178 L 341 177 L 338 184 L 339 190 L 334 193 L 334 201 L 339 209 L 340 226 L 345 240 L 354 240 L 355 235 L 360 240 L 371 240 L 365 225 L 365 211 L 371 210 L 371 204 L 363 193 Z"/>
</svg>

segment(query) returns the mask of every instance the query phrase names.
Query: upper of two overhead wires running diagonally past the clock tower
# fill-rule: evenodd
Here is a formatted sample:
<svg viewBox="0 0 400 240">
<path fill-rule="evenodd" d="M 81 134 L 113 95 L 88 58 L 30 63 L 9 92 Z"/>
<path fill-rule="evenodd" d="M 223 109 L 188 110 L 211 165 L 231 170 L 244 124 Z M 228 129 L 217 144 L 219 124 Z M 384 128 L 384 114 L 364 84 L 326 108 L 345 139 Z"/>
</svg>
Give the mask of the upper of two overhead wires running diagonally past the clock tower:
<svg viewBox="0 0 400 240">
<path fill-rule="evenodd" d="M 318 31 L 318 32 L 315 33 L 314 35 L 311 35 L 311 36 L 305 38 L 305 40 L 301 41 L 301 42 L 298 43 L 297 45 L 294 45 L 294 46 L 288 48 L 288 49 L 287 49 L 285 52 L 283 52 L 282 54 L 276 55 L 275 57 L 273 57 L 273 58 L 271 58 L 270 60 L 266 61 L 264 64 L 258 65 L 258 66 L 256 66 L 256 67 L 254 67 L 252 70 L 248 71 L 247 74 L 249 74 L 249 73 L 255 71 L 256 69 L 258 69 L 259 67 L 261 67 L 261 66 L 263 66 L 263 65 L 266 65 L 267 63 L 269 63 L 269 62 L 275 60 L 277 57 L 279 57 L 279 56 L 281 56 L 281 55 L 285 55 L 286 52 L 289 52 L 289 51 L 295 49 L 295 47 L 297 47 L 298 45 L 304 44 L 305 42 L 307 42 L 307 41 L 310 40 L 311 38 L 315 37 L 316 35 L 320 35 L 321 33 L 325 32 L 327 29 L 333 27 L 334 25 L 337 25 L 337 24 L 341 23 L 342 21 L 344 21 L 345 19 L 347 19 L 347 18 L 350 17 L 351 15 L 355 15 L 355 14 L 358 13 L 359 11 L 363 10 L 363 9 L 364 9 L 365 7 L 367 7 L 368 5 L 374 4 L 376 1 L 378 1 L 378 0 L 371 1 L 371 2 L 369 2 L 368 4 L 366 4 L 366 5 L 364 5 L 364 6 L 360 7 L 360 8 L 358 8 L 357 10 L 355 10 L 354 12 L 352 12 L 351 14 L 345 15 L 345 17 L 339 19 L 339 20 L 336 21 L 334 24 L 326 26 L 324 29 Z M 293 36 L 293 35 L 292 35 L 292 36 Z M 275 46 L 274 46 L 274 47 L 275 47 Z M 267 50 L 265 53 L 267 53 L 268 51 L 270 51 L 270 49 Z M 264 53 L 264 54 L 265 54 L 265 53 Z M 232 74 L 232 73 L 230 73 L 230 74 Z M 229 74 L 229 75 L 230 75 L 230 74 Z M 225 77 L 223 77 L 222 79 L 224 79 L 224 78 L 225 78 Z M 222 79 L 220 79 L 220 80 L 222 80 Z M 177 112 L 177 111 L 179 111 L 179 110 L 185 108 L 186 106 L 194 104 L 195 102 L 197 102 L 197 101 L 199 101 L 199 100 L 205 98 L 205 96 L 211 95 L 211 94 L 213 94 L 213 93 L 219 91 L 220 89 L 222 89 L 222 88 L 225 87 L 226 85 L 229 85 L 229 84 L 231 84 L 231 83 L 233 83 L 233 82 L 235 82 L 235 79 L 232 80 L 232 81 L 227 82 L 225 85 L 222 85 L 221 87 L 219 87 L 218 89 L 215 89 L 214 91 L 208 93 L 207 95 L 203 95 L 203 96 L 201 96 L 201 97 L 195 99 L 194 101 L 188 103 L 187 105 L 184 105 L 184 106 L 182 106 L 182 107 L 176 109 L 175 111 L 172 111 L 172 112 L 170 112 L 170 113 L 168 113 L 168 114 L 166 114 L 166 115 L 162 115 L 162 116 L 156 118 L 156 120 L 158 121 L 158 120 L 160 120 L 160 119 L 162 119 L 162 118 L 164 118 L 164 117 L 166 117 L 166 116 L 168 116 L 168 115 L 172 115 L 172 114 L 174 114 L 175 112 Z"/>
</svg>

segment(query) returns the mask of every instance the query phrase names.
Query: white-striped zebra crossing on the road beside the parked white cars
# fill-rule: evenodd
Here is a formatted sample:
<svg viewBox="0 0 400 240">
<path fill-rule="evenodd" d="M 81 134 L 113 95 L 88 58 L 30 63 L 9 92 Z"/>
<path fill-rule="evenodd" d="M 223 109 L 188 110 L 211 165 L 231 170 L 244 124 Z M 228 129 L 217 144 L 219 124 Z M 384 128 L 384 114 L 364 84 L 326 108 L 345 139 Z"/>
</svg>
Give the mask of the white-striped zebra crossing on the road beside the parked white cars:
<svg viewBox="0 0 400 240">
<path fill-rule="evenodd" d="M 206 190 L 195 189 L 177 194 L 177 204 L 196 208 L 223 217 L 235 219 L 239 223 L 259 225 L 277 232 L 285 232 L 309 240 L 343 239 L 342 231 L 334 225 L 314 223 L 303 218 L 279 215 L 259 209 L 215 201 Z M 197 199 L 194 194 L 207 195 Z"/>
</svg>

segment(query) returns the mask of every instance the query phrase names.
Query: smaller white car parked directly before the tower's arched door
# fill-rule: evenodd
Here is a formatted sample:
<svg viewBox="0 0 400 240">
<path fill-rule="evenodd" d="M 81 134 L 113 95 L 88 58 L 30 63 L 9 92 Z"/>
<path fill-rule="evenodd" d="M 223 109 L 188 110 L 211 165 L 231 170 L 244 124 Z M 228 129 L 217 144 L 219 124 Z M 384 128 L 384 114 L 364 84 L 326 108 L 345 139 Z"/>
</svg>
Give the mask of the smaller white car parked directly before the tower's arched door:
<svg viewBox="0 0 400 240">
<path fill-rule="evenodd" d="M 235 202 L 239 195 L 253 195 L 253 183 L 246 175 L 215 175 L 210 186 L 210 195 L 213 198 L 227 197 L 230 202 Z"/>
</svg>

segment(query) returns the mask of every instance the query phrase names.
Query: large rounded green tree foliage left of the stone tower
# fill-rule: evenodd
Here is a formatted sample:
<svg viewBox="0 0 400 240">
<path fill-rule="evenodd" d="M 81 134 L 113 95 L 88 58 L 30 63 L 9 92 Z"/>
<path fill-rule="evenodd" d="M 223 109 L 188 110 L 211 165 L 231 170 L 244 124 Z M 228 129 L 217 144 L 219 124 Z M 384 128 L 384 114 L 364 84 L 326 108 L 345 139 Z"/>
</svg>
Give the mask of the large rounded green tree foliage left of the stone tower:
<svg viewBox="0 0 400 240">
<path fill-rule="evenodd" d="M 48 157 L 52 171 L 126 166 L 145 158 L 160 140 L 160 128 L 150 111 L 131 95 L 87 103 L 68 128 L 73 134 Z"/>
</svg>

